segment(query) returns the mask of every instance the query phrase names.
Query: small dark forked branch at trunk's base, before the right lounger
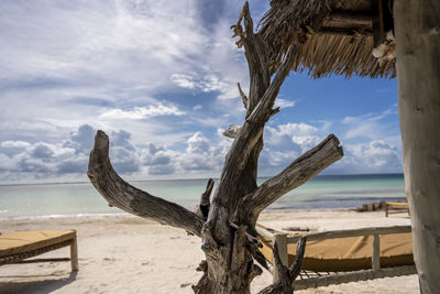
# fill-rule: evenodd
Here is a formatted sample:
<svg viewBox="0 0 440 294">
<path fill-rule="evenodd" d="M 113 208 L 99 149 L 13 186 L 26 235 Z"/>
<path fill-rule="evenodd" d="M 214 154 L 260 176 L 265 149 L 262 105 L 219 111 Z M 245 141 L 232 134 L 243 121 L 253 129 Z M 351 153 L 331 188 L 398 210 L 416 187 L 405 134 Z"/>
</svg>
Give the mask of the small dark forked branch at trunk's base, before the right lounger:
<svg viewBox="0 0 440 294">
<path fill-rule="evenodd" d="M 296 277 L 299 275 L 302 266 L 304 253 L 306 252 L 306 242 L 307 237 L 302 237 L 296 246 L 296 255 L 295 262 L 292 264 L 290 269 L 287 270 L 286 266 L 283 265 L 278 254 L 278 248 L 276 242 L 274 243 L 274 263 L 277 264 L 279 274 L 279 281 L 275 282 L 274 284 L 263 288 L 260 291 L 258 294 L 285 294 L 285 293 L 294 293 L 293 291 L 293 283 L 295 282 Z"/>
</svg>

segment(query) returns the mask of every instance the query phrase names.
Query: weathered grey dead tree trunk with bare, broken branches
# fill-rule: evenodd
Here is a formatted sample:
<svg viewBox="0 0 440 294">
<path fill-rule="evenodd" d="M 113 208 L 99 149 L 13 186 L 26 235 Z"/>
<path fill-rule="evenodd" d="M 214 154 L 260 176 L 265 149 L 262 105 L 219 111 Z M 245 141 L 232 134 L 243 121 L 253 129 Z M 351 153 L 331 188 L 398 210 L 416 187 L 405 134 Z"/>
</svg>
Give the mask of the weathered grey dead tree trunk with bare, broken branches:
<svg viewBox="0 0 440 294">
<path fill-rule="evenodd" d="M 208 183 L 195 213 L 130 186 L 113 171 L 108 157 L 108 137 L 101 131 L 96 135 L 88 170 L 90 182 L 112 206 L 201 237 L 206 260 L 199 269 L 205 273 L 193 287 L 196 293 L 250 293 L 252 280 L 262 273 L 254 261 L 265 265 L 255 231 L 260 213 L 343 155 L 339 140 L 331 134 L 282 173 L 257 186 L 257 160 L 263 149 L 264 126 L 278 112 L 278 109 L 273 109 L 274 102 L 292 67 L 296 46 L 289 48 L 279 69 L 272 73 L 271 56 L 263 37 L 254 33 L 248 3 L 232 28 L 234 36 L 239 36 L 237 44 L 245 50 L 251 84 L 248 96 L 239 85 L 246 117 L 241 127 L 231 126 L 226 132 L 234 141 L 211 203 L 212 183 Z M 289 291 L 286 279 L 295 279 L 298 263 L 295 266 L 290 273 L 285 271 L 283 285 L 274 285 L 264 293 Z"/>
</svg>

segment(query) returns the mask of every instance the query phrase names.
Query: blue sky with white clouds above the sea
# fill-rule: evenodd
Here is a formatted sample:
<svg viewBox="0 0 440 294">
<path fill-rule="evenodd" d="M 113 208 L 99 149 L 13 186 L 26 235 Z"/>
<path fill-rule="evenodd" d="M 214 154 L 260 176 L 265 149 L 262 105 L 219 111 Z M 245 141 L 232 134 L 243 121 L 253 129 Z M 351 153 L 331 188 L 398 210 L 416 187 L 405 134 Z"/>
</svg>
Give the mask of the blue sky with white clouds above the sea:
<svg viewBox="0 0 440 294">
<path fill-rule="evenodd" d="M 0 183 L 86 181 L 97 129 L 129 179 L 219 176 L 244 116 L 243 1 L 2 0 Z M 268 1 L 251 1 L 255 23 Z M 330 174 L 400 173 L 396 79 L 290 73 L 267 123 L 260 175 L 329 133 L 345 156 Z"/>
</svg>

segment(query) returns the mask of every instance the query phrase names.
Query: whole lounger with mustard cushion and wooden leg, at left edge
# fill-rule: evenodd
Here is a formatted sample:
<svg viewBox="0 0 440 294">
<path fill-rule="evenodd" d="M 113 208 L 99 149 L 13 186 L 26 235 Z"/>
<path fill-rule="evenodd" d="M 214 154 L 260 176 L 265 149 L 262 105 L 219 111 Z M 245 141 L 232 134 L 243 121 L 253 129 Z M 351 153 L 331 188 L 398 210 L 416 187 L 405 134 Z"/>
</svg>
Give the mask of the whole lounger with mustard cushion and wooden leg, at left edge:
<svg viewBox="0 0 440 294">
<path fill-rule="evenodd" d="M 48 251 L 70 246 L 70 258 L 33 259 Z M 70 261 L 72 271 L 78 271 L 76 231 L 11 231 L 0 235 L 0 265 L 10 263 Z"/>
</svg>

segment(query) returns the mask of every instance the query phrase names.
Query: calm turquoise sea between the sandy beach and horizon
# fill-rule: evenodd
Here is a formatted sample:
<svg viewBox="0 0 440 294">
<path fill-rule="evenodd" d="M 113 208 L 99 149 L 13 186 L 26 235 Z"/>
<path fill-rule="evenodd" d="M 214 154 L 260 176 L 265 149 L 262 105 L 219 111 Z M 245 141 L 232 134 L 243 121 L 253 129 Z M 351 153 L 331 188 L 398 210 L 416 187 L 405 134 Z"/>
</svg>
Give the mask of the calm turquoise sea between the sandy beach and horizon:
<svg viewBox="0 0 440 294">
<path fill-rule="evenodd" d="M 206 183 L 207 179 L 131 182 L 133 186 L 191 210 Z M 406 199 L 402 174 L 317 176 L 286 194 L 268 209 L 355 208 L 383 199 Z M 90 183 L 0 185 L 0 219 L 121 213 L 109 207 Z"/>
</svg>

